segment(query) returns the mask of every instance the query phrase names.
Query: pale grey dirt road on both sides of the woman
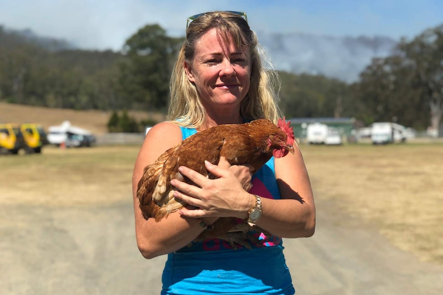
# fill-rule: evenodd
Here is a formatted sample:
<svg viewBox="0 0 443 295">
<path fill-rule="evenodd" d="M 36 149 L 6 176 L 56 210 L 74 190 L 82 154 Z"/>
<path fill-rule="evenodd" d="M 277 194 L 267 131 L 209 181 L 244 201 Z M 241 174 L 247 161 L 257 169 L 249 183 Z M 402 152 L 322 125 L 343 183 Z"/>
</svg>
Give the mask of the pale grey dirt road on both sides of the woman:
<svg viewBox="0 0 443 295">
<path fill-rule="evenodd" d="M 128 198 L 129 200 L 130 198 Z M 317 231 L 284 240 L 297 294 L 443 294 L 443 266 L 419 262 L 317 200 Z M 136 248 L 132 204 L 0 208 L 0 293 L 159 294 L 165 257 Z"/>
</svg>

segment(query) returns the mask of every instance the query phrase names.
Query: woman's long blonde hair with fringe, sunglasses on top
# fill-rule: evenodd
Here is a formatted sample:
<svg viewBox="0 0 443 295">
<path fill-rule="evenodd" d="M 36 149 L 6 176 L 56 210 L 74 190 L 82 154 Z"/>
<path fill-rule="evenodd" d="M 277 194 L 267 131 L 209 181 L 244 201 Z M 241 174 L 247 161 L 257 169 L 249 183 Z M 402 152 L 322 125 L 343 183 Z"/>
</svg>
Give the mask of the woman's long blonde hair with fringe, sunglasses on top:
<svg viewBox="0 0 443 295">
<path fill-rule="evenodd" d="M 197 89 L 188 80 L 184 62 L 192 63 L 195 46 L 201 36 L 215 28 L 219 36 L 237 48 L 249 48 L 251 78 L 249 91 L 241 102 L 240 114 L 246 120 L 268 119 L 277 123 L 280 114 L 278 92 L 280 80 L 257 37 L 241 15 L 230 12 L 207 12 L 191 22 L 186 31 L 186 41 L 178 54 L 171 77 L 171 102 L 168 119 L 180 126 L 200 128 L 206 123 L 206 110 Z"/>
</svg>

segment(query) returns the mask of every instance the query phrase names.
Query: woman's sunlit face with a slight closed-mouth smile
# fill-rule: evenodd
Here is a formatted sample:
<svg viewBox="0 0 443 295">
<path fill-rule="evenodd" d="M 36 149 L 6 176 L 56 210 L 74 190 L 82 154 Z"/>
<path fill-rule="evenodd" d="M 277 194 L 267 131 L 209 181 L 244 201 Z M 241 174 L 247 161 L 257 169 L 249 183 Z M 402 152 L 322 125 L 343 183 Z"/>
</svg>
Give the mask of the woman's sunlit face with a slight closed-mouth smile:
<svg viewBox="0 0 443 295">
<path fill-rule="evenodd" d="M 249 50 L 225 44 L 216 29 L 201 36 L 192 64 L 184 65 L 205 107 L 240 105 L 249 90 L 251 57 Z"/>
</svg>

